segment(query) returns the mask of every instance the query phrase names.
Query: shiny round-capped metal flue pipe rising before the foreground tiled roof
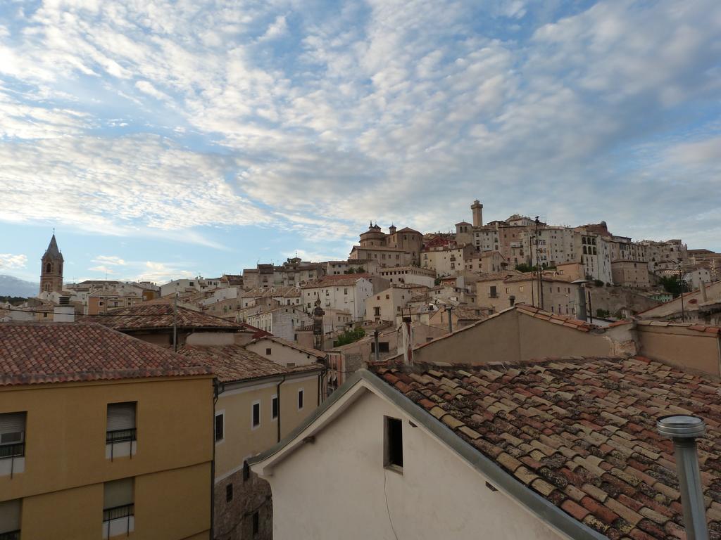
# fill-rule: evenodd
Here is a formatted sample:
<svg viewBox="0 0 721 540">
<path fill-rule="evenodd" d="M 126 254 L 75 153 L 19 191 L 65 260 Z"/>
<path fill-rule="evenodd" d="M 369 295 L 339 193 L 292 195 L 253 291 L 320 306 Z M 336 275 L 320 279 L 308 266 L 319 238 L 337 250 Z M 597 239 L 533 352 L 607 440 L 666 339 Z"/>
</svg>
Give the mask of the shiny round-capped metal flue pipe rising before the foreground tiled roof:
<svg viewBox="0 0 721 540">
<path fill-rule="evenodd" d="M 688 540 L 708 540 L 706 505 L 701 490 L 699 456 L 696 438 L 706 433 L 706 424 L 698 416 L 662 416 L 656 422 L 658 433 L 673 440 L 678 484 L 681 487 L 681 508 Z"/>
</svg>

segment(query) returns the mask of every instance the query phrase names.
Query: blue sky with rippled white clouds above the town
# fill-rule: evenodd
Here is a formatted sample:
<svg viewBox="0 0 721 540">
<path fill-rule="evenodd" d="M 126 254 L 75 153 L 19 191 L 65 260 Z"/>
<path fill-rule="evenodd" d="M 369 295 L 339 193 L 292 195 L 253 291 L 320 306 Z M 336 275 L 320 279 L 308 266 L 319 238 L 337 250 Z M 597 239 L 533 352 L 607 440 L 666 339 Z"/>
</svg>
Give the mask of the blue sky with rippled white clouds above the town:
<svg viewBox="0 0 721 540">
<path fill-rule="evenodd" d="M 0 3 L 0 274 L 346 258 L 368 222 L 721 251 L 718 0 Z"/>
</svg>

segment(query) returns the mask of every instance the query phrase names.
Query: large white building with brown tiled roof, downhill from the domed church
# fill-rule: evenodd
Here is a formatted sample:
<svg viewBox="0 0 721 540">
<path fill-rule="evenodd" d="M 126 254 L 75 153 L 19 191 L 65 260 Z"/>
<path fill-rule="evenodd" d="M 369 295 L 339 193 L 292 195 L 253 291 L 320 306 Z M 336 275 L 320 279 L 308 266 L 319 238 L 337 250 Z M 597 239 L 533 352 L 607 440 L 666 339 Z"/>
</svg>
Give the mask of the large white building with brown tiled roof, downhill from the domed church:
<svg viewBox="0 0 721 540">
<path fill-rule="evenodd" d="M 325 310 L 343 310 L 350 312 L 353 320 L 363 320 L 366 316 L 366 299 L 373 295 L 373 284 L 367 274 L 346 274 L 325 276 L 318 282 L 301 287 L 301 302 L 306 312 L 311 312 L 315 301 L 321 301 Z"/>
</svg>

